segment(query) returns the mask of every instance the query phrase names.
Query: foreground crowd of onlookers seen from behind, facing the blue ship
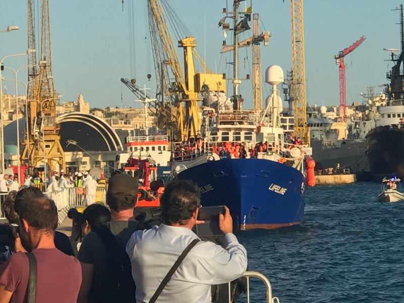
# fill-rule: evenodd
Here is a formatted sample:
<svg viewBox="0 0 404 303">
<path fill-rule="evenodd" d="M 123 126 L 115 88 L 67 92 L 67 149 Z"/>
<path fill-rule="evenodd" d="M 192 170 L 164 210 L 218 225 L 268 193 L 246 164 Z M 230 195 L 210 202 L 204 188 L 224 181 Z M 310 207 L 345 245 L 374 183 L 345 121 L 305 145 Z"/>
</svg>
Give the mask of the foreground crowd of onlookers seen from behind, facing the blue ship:
<svg viewBox="0 0 404 303">
<path fill-rule="evenodd" d="M 168 184 L 161 197 L 163 223 L 153 227 L 133 218 L 137 192 L 132 176 L 110 178 L 109 212 L 91 205 L 81 216 L 84 238 L 77 259 L 58 246 L 54 202 L 34 186 L 13 192 L 2 208 L 19 232 L 12 227 L 14 243 L 0 269 L 0 301 L 27 302 L 34 293 L 37 302 L 207 303 L 211 285 L 243 275 L 246 250 L 233 234 L 229 209 L 218 218 L 221 246 L 201 241 L 192 231 L 203 223 L 197 219 L 201 206 L 196 184 Z M 35 274 L 32 292 L 29 277 Z"/>
</svg>

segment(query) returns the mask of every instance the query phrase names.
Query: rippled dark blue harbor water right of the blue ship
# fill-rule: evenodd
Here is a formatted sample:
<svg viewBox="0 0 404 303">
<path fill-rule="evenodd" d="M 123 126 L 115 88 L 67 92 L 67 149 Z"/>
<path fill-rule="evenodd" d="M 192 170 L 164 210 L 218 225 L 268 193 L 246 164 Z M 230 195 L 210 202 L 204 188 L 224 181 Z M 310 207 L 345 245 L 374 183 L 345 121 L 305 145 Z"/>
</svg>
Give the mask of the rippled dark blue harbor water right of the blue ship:
<svg viewBox="0 0 404 303">
<path fill-rule="evenodd" d="M 308 188 L 301 225 L 237 233 L 248 270 L 265 274 L 281 303 L 402 302 L 404 201 L 378 203 L 380 191 L 372 182 Z M 263 285 L 251 284 L 252 301 L 264 301 Z"/>
</svg>

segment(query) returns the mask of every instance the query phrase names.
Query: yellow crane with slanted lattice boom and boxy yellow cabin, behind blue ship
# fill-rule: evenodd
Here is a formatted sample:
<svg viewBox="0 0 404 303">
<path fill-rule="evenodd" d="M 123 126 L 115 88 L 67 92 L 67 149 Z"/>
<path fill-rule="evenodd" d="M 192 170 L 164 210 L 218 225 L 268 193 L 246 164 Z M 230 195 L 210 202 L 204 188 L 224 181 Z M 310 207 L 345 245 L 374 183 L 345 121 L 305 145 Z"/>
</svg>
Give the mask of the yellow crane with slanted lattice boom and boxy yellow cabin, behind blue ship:
<svg viewBox="0 0 404 303">
<path fill-rule="evenodd" d="M 181 32 L 185 33 L 185 37 L 178 40 L 178 47 L 183 48 L 184 55 L 184 72 L 182 71 L 162 3 L 169 11 L 170 24 L 175 24 L 177 32 L 181 28 L 179 17 L 166 0 L 147 0 L 151 46 L 161 100 L 160 114 L 166 117 L 165 122 L 172 122 L 167 131 L 172 131 L 174 140 L 181 140 L 184 136 L 195 136 L 200 131 L 199 93 L 206 93 L 208 90 L 225 92 L 226 85 L 222 74 L 213 74 L 206 67 L 196 51 L 195 38 L 186 31 Z M 195 72 L 194 58 L 204 67 L 204 73 Z M 166 96 L 168 103 L 164 102 Z M 160 122 L 164 124 L 163 121 Z"/>
</svg>

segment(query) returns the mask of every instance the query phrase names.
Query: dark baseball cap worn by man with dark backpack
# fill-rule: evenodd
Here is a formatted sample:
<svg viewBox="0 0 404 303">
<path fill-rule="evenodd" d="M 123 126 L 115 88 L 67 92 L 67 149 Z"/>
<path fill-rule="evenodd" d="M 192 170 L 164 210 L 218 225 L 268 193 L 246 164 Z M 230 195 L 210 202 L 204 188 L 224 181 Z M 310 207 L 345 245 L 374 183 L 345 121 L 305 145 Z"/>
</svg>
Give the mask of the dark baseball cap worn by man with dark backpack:
<svg viewBox="0 0 404 303">
<path fill-rule="evenodd" d="M 108 180 L 107 194 L 115 198 L 137 198 L 137 179 L 128 174 L 117 174 Z"/>
</svg>

